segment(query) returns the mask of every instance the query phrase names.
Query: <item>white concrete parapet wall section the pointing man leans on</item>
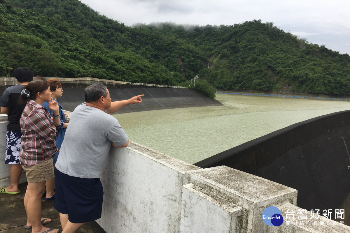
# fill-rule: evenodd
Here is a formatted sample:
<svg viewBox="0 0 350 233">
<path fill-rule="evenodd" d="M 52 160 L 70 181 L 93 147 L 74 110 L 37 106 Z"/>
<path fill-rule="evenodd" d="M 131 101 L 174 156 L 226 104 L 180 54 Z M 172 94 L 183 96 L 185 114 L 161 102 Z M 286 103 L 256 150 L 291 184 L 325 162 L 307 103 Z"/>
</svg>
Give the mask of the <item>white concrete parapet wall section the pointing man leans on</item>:
<svg viewBox="0 0 350 233">
<path fill-rule="evenodd" d="M 112 148 L 101 174 L 106 232 L 179 232 L 184 174 L 200 169 L 137 143 Z"/>
</svg>

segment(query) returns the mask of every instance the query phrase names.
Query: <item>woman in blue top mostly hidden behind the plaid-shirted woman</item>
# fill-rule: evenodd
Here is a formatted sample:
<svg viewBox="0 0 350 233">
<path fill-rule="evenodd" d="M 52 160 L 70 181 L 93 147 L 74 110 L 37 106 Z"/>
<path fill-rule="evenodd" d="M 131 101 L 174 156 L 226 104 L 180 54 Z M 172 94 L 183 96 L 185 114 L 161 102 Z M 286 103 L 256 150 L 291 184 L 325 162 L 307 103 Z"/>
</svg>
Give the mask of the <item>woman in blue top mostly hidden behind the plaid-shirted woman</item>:
<svg viewBox="0 0 350 233">
<path fill-rule="evenodd" d="M 61 97 L 62 93 L 63 93 L 62 84 L 61 84 L 61 82 L 59 82 L 58 79 L 54 79 L 54 78 L 48 79 L 47 81 L 50 84 L 51 97 L 52 97 L 52 99 L 54 99 L 57 102 L 56 98 L 57 97 Z M 47 108 L 47 110 L 49 111 L 50 115 L 52 116 L 52 110 L 49 109 L 49 104 L 47 102 L 44 102 L 43 106 L 45 108 Z M 59 106 L 59 119 L 61 121 L 61 125 L 59 126 L 59 128 L 57 128 L 58 136 L 56 138 L 56 145 L 57 145 L 57 148 L 59 149 L 59 148 L 61 148 L 61 145 L 62 145 L 62 142 L 63 142 L 63 139 L 64 139 L 64 134 L 65 134 L 66 128 L 68 126 L 68 123 L 64 122 L 65 121 L 65 117 L 68 116 L 68 115 L 66 115 L 62 111 L 62 105 L 61 104 L 58 103 L 58 106 Z M 57 161 L 57 158 L 58 158 L 58 154 L 59 154 L 59 152 L 57 152 L 54 155 L 54 157 L 53 157 L 54 165 L 56 164 L 56 161 Z M 51 181 L 50 182 L 46 182 L 46 197 L 44 198 L 45 201 L 52 200 L 52 199 L 55 198 L 54 185 L 55 185 L 55 183 L 51 183 Z"/>
</svg>

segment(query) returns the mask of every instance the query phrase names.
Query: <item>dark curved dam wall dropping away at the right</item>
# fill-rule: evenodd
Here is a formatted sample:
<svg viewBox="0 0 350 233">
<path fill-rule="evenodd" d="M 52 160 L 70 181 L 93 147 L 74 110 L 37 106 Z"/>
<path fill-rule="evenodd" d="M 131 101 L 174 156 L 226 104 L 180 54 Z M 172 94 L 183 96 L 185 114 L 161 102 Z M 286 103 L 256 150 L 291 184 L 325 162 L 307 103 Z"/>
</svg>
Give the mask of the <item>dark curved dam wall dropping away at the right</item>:
<svg viewBox="0 0 350 233">
<path fill-rule="evenodd" d="M 350 111 L 290 125 L 195 166 L 228 166 L 298 190 L 307 210 L 345 209 L 350 224 Z"/>
</svg>

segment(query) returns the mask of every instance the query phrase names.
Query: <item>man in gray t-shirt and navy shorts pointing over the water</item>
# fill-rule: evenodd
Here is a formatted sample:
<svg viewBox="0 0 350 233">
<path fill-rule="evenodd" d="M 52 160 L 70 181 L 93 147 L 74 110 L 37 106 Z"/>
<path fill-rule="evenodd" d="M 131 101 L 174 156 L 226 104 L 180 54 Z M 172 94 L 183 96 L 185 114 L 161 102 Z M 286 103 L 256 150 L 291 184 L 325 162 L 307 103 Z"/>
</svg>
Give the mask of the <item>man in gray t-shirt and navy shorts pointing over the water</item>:
<svg viewBox="0 0 350 233">
<path fill-rule="evenodd" d="M 55 168 L 55 209 L 63 232 L 75 232 L 102 214 L 103 187 L 99 180 L 111 145 L 125 147 L 128 136 L 115 112 L 141 103 L 141 96 L 111 102 L 106 86 L 95 83 L 85 89 L 86 103 L 72 113 Z"/>
</svg>

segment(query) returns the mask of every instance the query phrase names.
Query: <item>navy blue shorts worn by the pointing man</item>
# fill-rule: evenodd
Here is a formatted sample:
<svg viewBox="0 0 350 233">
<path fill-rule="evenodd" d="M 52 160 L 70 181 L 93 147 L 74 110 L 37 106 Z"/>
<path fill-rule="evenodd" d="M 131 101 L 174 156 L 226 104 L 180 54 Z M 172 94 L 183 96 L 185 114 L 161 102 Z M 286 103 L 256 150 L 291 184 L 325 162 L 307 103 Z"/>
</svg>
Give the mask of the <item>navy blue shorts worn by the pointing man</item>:
<svg viewBox="0 0 350 233">
<path fill-rule="evenodd" d="M 103 187 L 100 178 L 86 179 L 66 175 L 55 168 L 55 209 L 68 214 L 71 223 L 101 218 Z"/>
</svg>

